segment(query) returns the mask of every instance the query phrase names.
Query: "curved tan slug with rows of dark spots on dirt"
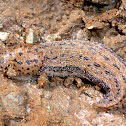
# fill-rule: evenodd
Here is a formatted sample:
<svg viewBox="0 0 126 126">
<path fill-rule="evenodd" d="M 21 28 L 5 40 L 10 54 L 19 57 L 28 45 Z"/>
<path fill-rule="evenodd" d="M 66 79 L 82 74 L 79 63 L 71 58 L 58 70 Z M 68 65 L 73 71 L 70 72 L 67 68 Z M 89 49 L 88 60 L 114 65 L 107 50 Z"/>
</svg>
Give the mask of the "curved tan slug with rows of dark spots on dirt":
<svg viewBox="0 0 126 126">
<path fill-rule="evenodd" d="M 66 40 L 41 45 L 20 44 L 1 51 L 0 58 L 4 74 L 13 68 L 19 77 L 46 72 L 48 76 L 86 78 L 106 91 L 105 97 L 95 103 L 101 108 L 115 106 L 125 98 L 126 65 L 97 42 Z"/>
</svg>

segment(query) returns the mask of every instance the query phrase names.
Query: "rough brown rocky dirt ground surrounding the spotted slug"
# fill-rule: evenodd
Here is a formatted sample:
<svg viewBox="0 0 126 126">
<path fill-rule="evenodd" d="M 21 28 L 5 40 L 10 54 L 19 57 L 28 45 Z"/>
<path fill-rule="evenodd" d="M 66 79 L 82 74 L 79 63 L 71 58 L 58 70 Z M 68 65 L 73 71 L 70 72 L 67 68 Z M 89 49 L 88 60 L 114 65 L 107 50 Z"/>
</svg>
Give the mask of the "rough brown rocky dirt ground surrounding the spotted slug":
<svg viewBox="0 0 126 126">
<path fill-rule="evenodd" d="M 126 61 L 125 0 L 1 0 L 0 45 L 27 42 L 29 31 L 34 43 L 97 41 Z M 1 73 L 0 126 L 126 126 L 126 103 L 97 110 L 92 103 L 103 95 L 89 82 L 81 94 L 76 83 L 51 82 L 38 88 L 34 79 L 14 81 Z"/>
</svg>

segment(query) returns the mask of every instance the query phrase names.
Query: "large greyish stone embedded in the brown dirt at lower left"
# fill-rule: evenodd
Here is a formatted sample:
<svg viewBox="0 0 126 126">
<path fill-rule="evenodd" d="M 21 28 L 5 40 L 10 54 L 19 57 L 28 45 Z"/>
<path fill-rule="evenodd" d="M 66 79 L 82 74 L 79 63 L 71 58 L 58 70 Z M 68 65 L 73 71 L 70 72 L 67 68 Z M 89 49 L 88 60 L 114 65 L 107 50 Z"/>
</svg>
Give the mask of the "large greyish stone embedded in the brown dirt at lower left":
<svg viewBox="0 0 126 126">
<path fill-rule="evenodd" d="M 2 104 L 11 117 L 23 117 L 25 115 L 25 96 L 23 92 L 10 92 L 1 96 Z"/>
</svg>

